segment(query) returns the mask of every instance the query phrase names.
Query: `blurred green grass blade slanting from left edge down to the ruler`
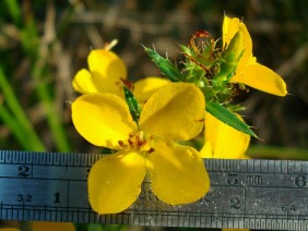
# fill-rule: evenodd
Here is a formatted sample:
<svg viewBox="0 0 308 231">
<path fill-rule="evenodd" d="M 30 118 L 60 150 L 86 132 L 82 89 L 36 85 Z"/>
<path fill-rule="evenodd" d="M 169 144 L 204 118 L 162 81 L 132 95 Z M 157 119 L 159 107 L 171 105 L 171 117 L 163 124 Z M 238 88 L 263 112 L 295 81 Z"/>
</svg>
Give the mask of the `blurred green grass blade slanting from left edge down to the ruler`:
<svg viewBox="0 0 308 231">
<path fill-rule="evenodd" d="M 25 134 L 24 139 L 26 139 L 26 142 L 32 144 L 33 150 L 45 150 L 44 144 L 38 138 L 31 122 L 28 121 L 27 115 L 25 114 L 17 98 L 15 97 L 11 85 L 7 81 L 2 66 L 0 66 L 0 88 L 2 89 L 4 100 L 9 109 L 12 111 L 13 117 L 16 119 L 16 122 L 19 123 L 20 129 L 24 131 L 24 134 Z"/>
</svg>

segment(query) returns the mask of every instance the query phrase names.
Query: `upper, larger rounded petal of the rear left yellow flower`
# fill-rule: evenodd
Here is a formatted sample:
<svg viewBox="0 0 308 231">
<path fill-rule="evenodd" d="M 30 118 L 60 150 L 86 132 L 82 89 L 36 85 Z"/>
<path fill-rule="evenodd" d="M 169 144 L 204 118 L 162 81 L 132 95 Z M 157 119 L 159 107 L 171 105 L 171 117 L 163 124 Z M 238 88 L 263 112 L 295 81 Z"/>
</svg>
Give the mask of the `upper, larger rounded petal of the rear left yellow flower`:
<svg viewBox="0 0 308 231">
<path fill-rule="evenodd" d="M 105 49 L 92 50 L 87 62 L 93 83 L 98 92 L 121 94 L 120 80 L 127 78 L 127 69 L 116 53 Z"/>
</svg>

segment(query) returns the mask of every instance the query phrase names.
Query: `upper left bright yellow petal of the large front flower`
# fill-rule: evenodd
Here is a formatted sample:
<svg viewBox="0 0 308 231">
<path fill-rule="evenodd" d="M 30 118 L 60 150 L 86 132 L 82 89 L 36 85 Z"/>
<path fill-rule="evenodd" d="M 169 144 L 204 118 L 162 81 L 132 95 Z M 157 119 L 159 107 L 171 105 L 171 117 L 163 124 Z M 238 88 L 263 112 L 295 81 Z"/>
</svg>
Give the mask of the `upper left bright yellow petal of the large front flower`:
<svg viewBox="0 0 308 231">
<path fill-rule="evenodd" d="M 126 101 L 108 93 L 80 96 L 72 104 L 72 120 L 90 143 L 112 149 L 138 131 Z"/>
</svg>

